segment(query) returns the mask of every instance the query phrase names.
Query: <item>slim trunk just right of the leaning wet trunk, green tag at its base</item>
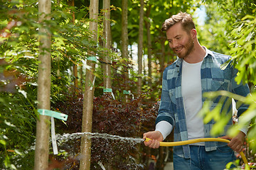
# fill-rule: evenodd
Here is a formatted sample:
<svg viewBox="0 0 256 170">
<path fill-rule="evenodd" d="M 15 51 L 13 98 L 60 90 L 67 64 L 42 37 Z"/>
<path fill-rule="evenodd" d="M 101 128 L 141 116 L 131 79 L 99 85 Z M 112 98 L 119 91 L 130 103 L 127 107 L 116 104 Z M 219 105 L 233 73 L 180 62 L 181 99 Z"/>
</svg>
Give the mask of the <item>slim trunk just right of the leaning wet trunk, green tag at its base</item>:
<svg viewBox="0 0 256 170">
<path fill-rule="evenodd" d="M 104 86 L 106 89 L 112 89 L 111 85 L 111 66 L 110 66 L 110 45 L 111 45 L 111 29 L 110 29 L 110 0 L 104 0 L 103 1 L 103 10 L 105 11 L 103 13 L 104 15 L 104 21 L 103 21 L 103 47 L 105 50 L 105 55 L 103 58 L 103 79 L 104 79 Z"/>
</svg>

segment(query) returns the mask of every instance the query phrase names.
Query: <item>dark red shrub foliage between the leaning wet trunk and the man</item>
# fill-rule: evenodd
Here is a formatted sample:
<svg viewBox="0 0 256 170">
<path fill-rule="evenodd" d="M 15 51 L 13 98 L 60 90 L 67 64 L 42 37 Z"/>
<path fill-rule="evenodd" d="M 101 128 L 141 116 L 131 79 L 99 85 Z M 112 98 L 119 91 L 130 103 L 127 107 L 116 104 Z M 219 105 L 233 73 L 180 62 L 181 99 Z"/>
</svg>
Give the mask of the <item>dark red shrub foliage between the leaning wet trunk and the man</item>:
<svg viewBox="0 0 256 170">
<path fill-rule="evenodd" d="M 122 137 L 142 137 L 144 128 L 153 128 L 156 118 L 157 105 L 142 98 L 136 98 L 130 103 L 121 103 L 113 101 L 110 96 L 95 99 L 95 108 L 93 117 L 93 130 L 95 132 L 107 133 L 110 135 L 119 135 Z M 94 162 L 104 162 L 116 167 L 117 169 L 135 169 L 137 147 L 126 142 L 117 141 L 108 143 L 107 141 L 95 141 L 100 144 L 95 146 L 96 154 L 101 155 L 94 159 Z M 103 146 L 103 147 L 99 147 Z M 111 147 L 110 147 L 111 146 Z M 99 149 L 99 150 L 98 150 Z M 119 151 L 119 152 L 117 152 Z M 94 153 L 94 147 L 92 147 Z M 143 153 L 140 153 L 143 155 Z M 139 162 L 142 164 L 142 162 Z"/>
</svg>

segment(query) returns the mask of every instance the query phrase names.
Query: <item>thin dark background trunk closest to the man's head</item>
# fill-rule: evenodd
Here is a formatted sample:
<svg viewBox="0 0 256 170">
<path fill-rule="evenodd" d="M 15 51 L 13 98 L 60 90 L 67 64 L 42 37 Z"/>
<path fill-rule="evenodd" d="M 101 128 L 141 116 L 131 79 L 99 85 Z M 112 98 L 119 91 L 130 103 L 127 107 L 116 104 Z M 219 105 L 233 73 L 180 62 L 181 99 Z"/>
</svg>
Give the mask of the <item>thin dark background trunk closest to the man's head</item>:
<svg viewBox="0 0 256 170">
<path fill-rule="evenodd" d="M 149 21 L 149 14 L 151 11 L 151 5 L 148 6 L 148 8 L 146 9 L 146 18 L 148 18 L 148 21 L 145 22 L 146 25 L 146 38 L 147 38 L 147 50 L 148 50 L 148 69 L 149 69 L 149 86 L 150 88 L 152 87 L 152 64 L 151 64 L 151 34 L 150 34 L 150 21 Z"/>
</svg>

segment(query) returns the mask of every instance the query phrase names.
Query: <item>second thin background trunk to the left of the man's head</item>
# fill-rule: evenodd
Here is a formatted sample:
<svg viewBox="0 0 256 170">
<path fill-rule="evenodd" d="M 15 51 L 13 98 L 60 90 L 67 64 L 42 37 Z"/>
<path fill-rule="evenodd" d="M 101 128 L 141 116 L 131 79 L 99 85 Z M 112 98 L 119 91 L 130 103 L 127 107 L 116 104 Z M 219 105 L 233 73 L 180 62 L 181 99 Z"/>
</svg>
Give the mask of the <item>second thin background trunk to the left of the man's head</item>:
<svg viewBox="0 0 256 170">
<path fill-rule="evenodd" d="M 140 0 L 139 8 L 139 40 L 138 40 L 138 93 L 142 91 L 142 55 L 143 55 L 143 17 L 144 17 L 144 0 Z"/>
</svg>

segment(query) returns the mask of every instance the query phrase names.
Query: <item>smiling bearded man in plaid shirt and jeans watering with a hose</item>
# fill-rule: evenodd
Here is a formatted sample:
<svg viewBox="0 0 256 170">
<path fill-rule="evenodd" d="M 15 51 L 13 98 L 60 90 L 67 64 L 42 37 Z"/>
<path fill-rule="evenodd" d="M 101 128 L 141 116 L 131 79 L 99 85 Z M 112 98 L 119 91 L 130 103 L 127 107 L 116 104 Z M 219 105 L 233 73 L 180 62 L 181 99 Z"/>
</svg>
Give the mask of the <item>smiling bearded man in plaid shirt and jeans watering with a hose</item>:
<svg viewBox="0 0 256 170">
<path fill-rule="evenodd" d="M 204 124 L 198 116 L 207 91 L 231 91 L 241 96 L 250 93 L 247 84 L 237 84 L 237 71 L 229 64 L 225 69 L 220 65 L 230 59 L 227 55 L 211 52 L 200 45 L 195 24 L 188 13 L 178 13 L 167 19 L 162 26 L 166 31 L 169 46 L 178 56 L 163 73 L 163 84 L 159 115 L 156 118 L 156 130 L 146 132 L 143 138 L 146 146 L 158 148 L 174 128 L 174 141 L 193 140 L 210 137 L 213 120 Z M 228 101 L 226 101 L 228 102 Z M 213 109 L 217 101 L 213 101 Z M 246 110 L 244 105 L 238 108 L 238 115 Z M 226 125 L 226 130 L 232 120 Z M 193 145 L 174 147 L 174 169 L 225 169 L 228 162 L 235 159 L 234 152 L 242 151 L 247 130 L 241 130 L 229 142 L 201 142 Z M 230 139 L 225 134 L 220 136 Z M 228 145 L 228 146 L 227 146 Z"/>
</svg>

